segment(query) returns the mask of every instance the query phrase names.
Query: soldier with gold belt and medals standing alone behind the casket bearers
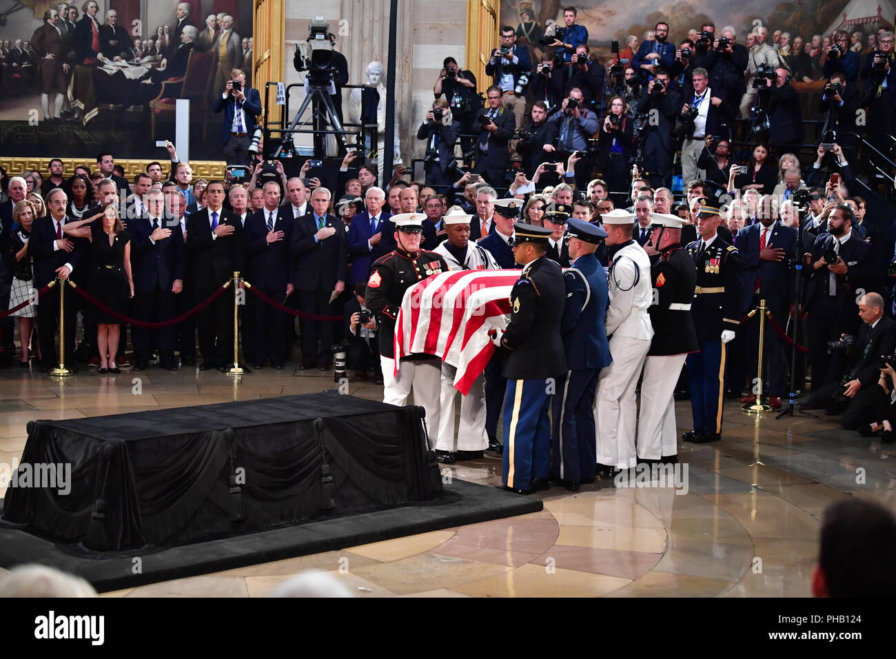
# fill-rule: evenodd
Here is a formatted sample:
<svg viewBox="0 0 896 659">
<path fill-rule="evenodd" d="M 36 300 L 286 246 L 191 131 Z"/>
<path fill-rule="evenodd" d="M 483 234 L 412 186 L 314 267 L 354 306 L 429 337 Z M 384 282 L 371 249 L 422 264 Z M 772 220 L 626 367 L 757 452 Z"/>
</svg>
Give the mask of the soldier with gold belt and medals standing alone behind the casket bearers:
<svg viewBox="0 0 896 659">
<path fill-rule="evenodd" d="M 687 246 L 697 269 L 697 287 L 691 314 L 697 328 L 700 351 L 687 356 L 691 381 L 694 429 L 682 439 L 698 444 L 718 441 L 722 431 L 725 395 L 725 344 L 740 325 L 741 265 L 737 247 L 716 235 L 719 209 L 702 199 L 697 212 L 700 238 Z"/>
</svg>

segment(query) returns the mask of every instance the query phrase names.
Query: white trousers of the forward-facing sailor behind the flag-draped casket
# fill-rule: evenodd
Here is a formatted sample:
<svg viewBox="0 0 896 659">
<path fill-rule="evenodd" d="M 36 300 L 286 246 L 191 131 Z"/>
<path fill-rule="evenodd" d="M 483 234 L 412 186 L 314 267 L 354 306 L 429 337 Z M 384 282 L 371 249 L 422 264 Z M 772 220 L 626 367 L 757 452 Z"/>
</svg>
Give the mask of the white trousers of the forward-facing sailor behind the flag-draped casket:
<svg viewBox="0 0 896 659">
<path fill-rule="evenodd" d="M 457 369 L 442 362 L 442 387 L 439 395 L 439 429 L 435 439 L 436 451 L 484 451 L 488 448 L 486 435 L 486 378 L 473 380 L 470 393 L 461 396 L 461 425 L 454 438 L 454 388 Z"/>
</svg>

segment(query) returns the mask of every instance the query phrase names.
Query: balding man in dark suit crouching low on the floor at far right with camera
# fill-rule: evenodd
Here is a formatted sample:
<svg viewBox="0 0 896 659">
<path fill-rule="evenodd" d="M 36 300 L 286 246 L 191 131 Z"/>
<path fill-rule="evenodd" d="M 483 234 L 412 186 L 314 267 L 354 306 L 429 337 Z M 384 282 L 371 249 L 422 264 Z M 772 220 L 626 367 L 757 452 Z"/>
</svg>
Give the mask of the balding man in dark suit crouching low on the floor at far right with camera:
<svg viewBox="0 0 896 659">
<path fill-rule="evenodd" d="M 892 365 L 892 352 L 896 347 L 896 321 L 883 315 L 883 298 L 877 293 L 866 293 L 858 300 L 858 316 L 862 325 L 852 334 L 841 334 L 828 343 L 831 357 L 840 357 L 840 363 L 849 360 L 840 369 L 838 379 L 817 389 L 803 405 L 805 409 L 824 409 L 828 415 L 840 414 L 840 425 L 848 430 L 857 429 L 873 421 L 874 408 L 883 392 L 877 387 L 881 369 Z M 889 384 L 892 389 L 892 383 Z M 887 396 L 889 398 L 889 396 Z"/>
</svg>

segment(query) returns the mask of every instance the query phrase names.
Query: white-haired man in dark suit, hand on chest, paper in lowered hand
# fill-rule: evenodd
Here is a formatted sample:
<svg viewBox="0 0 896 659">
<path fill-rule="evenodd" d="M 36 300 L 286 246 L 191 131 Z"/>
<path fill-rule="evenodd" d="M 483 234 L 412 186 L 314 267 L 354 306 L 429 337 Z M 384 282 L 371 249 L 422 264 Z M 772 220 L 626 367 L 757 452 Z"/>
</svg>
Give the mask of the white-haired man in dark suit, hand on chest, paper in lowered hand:
<svg viewBox="0 0 896 659">
<path fill-rule="evenodd" d="M 345 230 L 341 219 L 327 214 L 329 205 L 330 191 L 325 187 L 316 188 L 311 194 L 312 212 L 296 220 L 289 251 L 295 264 L 298 308 L 314 316 L 334 315 L 336 307 L 331 302 L 332 296 L 345 290 Z M 302 332 L 302 365 L 299 369 L 314 366 L 320 370 L 329 369 L 335 338 L 332 321 L 303 316 L 299 324 Z"/>
</svg>

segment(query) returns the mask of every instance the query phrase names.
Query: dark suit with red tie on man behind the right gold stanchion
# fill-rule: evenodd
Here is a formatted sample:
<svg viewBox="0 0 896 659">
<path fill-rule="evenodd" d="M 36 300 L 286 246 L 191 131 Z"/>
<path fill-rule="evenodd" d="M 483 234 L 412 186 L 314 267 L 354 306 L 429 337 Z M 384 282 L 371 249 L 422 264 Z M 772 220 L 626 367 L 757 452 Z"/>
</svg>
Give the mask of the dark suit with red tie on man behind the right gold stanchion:
<svg viewBox="0 0 896 659">
<path fill-rule="evenodd" d="M 765 299 L 771 315 L 784 326 L 788 318 L 788 309 L 793 301 L 790 263 L 797 257 L 797 231 L 775 221 L 770 212 L 763 212 L 759 222 L 737 232 L 737 250 L 740 252 L 743 267 L 742 314 L 745 315 L 758 307 L 759 300 Z M 747 325 L 750 325 L 746 357 L 746 364 L 749 366 L 755 364 L 757 360 L 759 316 L 751 318 L 747 321 Z M 767 396 L 771 407 L 778 409 L 781 396 L 787 392 L 785 383 L 788 359 L 784 343 L 769 322 L 765 324 L 765 350 L 763 366 L 766 375 L 763 376 L 762 393 Z M 743 383 L 733 384 L 738 387 Z M 756 396 L 751 393 L 742 398 L 741 403 L 754 403 L 755 400 Z"/>
</svg>

